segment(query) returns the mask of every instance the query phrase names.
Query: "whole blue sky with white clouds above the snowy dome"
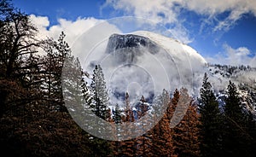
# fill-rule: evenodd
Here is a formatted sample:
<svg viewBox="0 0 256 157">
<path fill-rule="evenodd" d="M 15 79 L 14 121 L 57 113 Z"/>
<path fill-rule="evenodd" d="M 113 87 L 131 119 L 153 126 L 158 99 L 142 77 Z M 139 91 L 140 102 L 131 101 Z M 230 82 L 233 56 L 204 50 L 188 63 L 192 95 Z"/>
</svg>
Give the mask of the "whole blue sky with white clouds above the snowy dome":
<svg viewBox="0 0 256 157">
<path fill-rule="evenodd" d="M 15 7 L 28 15 L 34 15 L 34 19 L 44 27 L 43 32 L 54 34 L 55 30 L 63 29 L 69 36 L 69 32 L 73 33 L 73 25 L 76 25 L 76 29 L 79 22 L 90 27 L 97 21 L 131 15 L 166 26 L 175 38 L 196 49 L 207 61 L 255 66 L 255 1 L 221 2 L 223 1 L 13 0 Z M 72 41 L 73 37 L 75 35 L 71 34 L 69 40 Z"/>
</svg>

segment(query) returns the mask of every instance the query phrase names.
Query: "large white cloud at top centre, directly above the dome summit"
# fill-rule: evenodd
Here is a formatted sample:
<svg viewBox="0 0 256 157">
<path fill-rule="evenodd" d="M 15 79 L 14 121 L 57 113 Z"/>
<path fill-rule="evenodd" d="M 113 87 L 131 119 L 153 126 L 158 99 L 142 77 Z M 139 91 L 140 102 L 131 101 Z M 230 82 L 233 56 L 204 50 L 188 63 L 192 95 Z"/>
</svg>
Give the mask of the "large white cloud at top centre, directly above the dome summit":
<svg viewBox="0 0 256 157">
<path fill-rule="evenodd" d="M 112 6 L 115 10 L 123 10 L 124 15 L 134 15 L 145 19 L 153 20 L 155 23 L 174 24 L 175 27 L 170 28 L 172 37 L 176 38 L 184 44 L 192 41 L 189 38 L 189 33 L 182 25 L 181 20 L 178 20 L 179 8 L 175 8 L 175 1 L 150 1 L 148 0 L 107 0 L 102 8 Z"/>
</svg>

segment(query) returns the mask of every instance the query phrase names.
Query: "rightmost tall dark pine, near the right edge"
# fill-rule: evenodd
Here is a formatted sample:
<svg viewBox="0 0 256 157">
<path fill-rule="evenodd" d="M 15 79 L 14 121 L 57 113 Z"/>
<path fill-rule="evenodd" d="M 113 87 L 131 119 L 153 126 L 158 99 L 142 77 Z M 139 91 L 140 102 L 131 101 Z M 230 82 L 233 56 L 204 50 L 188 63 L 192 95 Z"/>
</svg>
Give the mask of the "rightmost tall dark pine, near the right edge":
<svg viewBox="0 0 256 157">
<path fill-rule="evenodd" d="M 230 81 L 227 97 L 224 100 L 224 154 L 229 156 L 248 156 L 246 116 L 242 111 L 236 84 Z"/>
</svg>

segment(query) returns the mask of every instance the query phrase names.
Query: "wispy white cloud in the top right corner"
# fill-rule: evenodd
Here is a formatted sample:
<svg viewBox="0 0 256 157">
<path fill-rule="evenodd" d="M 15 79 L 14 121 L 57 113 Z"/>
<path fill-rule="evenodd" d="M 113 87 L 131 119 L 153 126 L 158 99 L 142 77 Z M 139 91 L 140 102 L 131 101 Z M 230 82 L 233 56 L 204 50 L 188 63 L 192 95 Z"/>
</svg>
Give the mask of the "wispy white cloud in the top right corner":
<svg viewBox="0 0 256 157">
<path fill-rule="evenodd" d="M 217 25 L 214 26 L 213 31 L 228 31 L 244 14 L 252 13 L 256 16 L 256 1 L 254 0 L 178 0 L 177 2 L 185 9 L 195 11 L 199 15 L 207 16 L 205 22 L 215 20 Z M 224 12 L 230 12 L 230 14 L 224 20 L 218 20 L 217 16 Z"/>
</svg>

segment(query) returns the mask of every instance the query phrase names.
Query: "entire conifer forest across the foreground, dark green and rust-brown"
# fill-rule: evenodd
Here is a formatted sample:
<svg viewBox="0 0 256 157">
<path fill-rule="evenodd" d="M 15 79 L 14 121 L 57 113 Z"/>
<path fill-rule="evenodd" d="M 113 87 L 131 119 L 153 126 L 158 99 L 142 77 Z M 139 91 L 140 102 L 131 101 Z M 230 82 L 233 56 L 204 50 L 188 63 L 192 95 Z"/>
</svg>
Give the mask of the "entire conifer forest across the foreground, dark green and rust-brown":
<svg viewBox="0 0 256 157">
<path fill-rule="evenodd" d="M 131 93 L 124 91 L 124 101 L 111 104 L 101 65 L 95 65 L 89 77 L 72 55 L 65 32 L 57 40 L 38 39 L 37 34 L 29 15 L 9 1 L 0 1 L 1 156 L 256 156 L 255 114 L 243 108 L 240 87 L 232 81 L 221 101 L 209 73 L 204 73 L 197 97 L 189 96 L 186 88 L 163 89 L 154 105 L 144 96 L 134 105 Z M 69 72 L 73 73 L 68 76 Z M 188 108 L 171 127 L 177 103 L 183 103 L 184 97 L 191 100 Z M 67 102 L 73 106 L 67 107 Z M 94 115 L 88 116 L 113 124 L 112 134 L 131 136 L 132 127 L 119 132 L 117 126 L 143 119 L 164 105 L 154 127 L 126 140 L 95 137 L 74 121 L 84 119 L 83 114 L 76 118 L 70 114 L 79 108 L 90 110 Z M 101 122 L 91 127 L 97 123 Z"/>
</svg>

